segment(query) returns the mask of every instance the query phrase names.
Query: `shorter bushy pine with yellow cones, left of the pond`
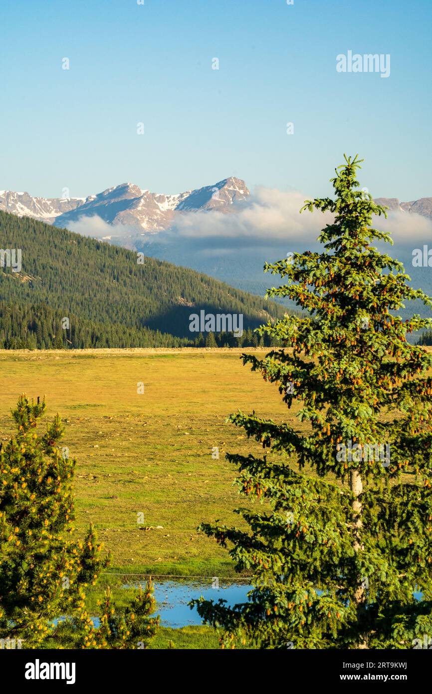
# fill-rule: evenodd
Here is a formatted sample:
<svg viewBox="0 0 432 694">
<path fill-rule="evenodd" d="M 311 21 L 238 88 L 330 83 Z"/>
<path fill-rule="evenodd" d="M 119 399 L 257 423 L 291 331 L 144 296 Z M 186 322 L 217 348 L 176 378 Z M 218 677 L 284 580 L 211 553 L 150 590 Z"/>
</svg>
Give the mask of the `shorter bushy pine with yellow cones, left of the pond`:
<svg viewBox="0 0 432 694">
<path fill-rule="evenodd" d="M 84 541 L 71 538 L 76 461 L 59 447 L 58 415 L 37 433 L 44 411 L 44 401 L 20 396 L 16 432 L 0 446 L 0 638 L 22 648 L 145 648 L 158 624 L 150 584 L 121 615 L 108 592 L 100 627 L 87 614 L 85 589 L 110 557 L 92 525 Z"/>
</svg>

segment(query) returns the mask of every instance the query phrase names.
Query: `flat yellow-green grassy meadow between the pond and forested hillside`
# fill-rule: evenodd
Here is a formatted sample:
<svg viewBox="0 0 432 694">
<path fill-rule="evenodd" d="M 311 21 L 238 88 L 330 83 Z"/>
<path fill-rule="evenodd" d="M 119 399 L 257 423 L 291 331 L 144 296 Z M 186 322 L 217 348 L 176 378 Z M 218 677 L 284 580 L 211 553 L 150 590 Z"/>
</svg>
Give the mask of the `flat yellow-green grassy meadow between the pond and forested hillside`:
<svg viewBox="0 0 432 694">
<path fill-rule="evenodd" d="M 277 389 L 241 350 L 0 352 L 0 439 L 19 393 L 46 396 L 76 457 L 76 532 L 96 525 L 111 571 L 229 576 L 227 552 L 198 534 L 201 521 L 233 525 L 245 500 L 225 452 L 260 448 L 225 418 L 236 409 L 291 421 Z M 137 393 L 137 383 L 144 393 Z M 218 446 L 219 459 L 212 459 Z M 144 526 L 137 514 L 144 514 Z M 159 526 L 159 527 L 158 527 Z M 162 526 L 162 527 L 161 527 Z"/>
</svg>

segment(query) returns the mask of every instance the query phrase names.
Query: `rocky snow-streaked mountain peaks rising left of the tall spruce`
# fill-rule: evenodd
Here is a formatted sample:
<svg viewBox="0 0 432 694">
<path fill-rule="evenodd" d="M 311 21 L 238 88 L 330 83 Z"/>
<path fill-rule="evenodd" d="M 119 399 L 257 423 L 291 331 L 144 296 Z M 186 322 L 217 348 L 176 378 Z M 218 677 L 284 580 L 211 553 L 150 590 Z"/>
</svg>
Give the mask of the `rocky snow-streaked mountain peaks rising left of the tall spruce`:
<svg viewBox="0 0 432 694">
<path fill-rule="evenodd" d="M 19 217 L 35 217 L 55 226 L 69 226 L 83 217 L 100 217 L 112 225 L 134 228 L 138 233 L 168 229 L 176 212 L 221 210 L 249 196 L 239 178 L 225 178 L 214 185 L 164 195 L 122 183 L 87 198 L 32 198 L 28 193 L 0 191 L 0 210 Z"/>
</svg>

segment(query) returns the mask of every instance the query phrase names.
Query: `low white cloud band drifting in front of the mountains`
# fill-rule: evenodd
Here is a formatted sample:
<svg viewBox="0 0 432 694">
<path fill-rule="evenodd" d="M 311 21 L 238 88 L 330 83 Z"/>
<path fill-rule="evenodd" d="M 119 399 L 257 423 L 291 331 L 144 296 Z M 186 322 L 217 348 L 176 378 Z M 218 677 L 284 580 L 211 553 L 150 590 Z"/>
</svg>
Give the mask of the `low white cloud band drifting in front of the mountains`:
<svg viewBox="0 0 432 694">
<path fill-rule="evenodd" d="M 330 213 L 314 210 L 300 214 L 304 200 L 310 196 L 300 192 L 286 192 L 260 187 L 247 201 L 234 205 L 228 212 L 217 210 L 182 212 L 175 215 L 169 230 L 148 233 L 120 223 L 109 224 L 101 217 L 80 217 L 70 222 L 69 229 L 83 236 L 97 239 L 115 238 L 124 245 L 133 245 L 133 239 L 149 243 L 173 244 L 190 242 L 200 248 L 230 249 L 234 246 L 275 246 L 291 244 L 298 247 L 316 247 L 320 230 L 333 221 Z M 413 248 L 432 239 L 432 220 L 420 214 L 392 210 L 388 219 L 374 217 L 373 225 L 392 235 L 397 246 Z"/>
</svg>

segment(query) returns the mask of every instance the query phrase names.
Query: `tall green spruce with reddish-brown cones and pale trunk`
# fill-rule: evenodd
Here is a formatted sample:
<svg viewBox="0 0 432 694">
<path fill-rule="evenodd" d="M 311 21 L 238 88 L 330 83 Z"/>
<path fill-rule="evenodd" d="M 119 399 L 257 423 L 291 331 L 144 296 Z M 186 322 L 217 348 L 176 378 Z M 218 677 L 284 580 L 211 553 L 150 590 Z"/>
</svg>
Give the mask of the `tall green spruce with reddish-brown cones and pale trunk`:
<svg viewBox="0 0 432 694">
<path fill-rule="evenodd" d="M 432 355 L 406 339 L 432 321 L 397 316 L 406 300 L 432 303 L 372 246 L 391 239 L 372 228 L 386 212 L 357 190 L 360 162 L 345 156 L 335 199 L 302 208 L 334 214 L 322 253 L 266 264 L 286 282 L 268 295 L 309 314 L 263 326 L 283 348 L 243 362 L 299 403 L 303 430 L 230 416 L 277 455 L 227 455 L 241 493 L 263 502 L 239 509 L 248 532 L 201 526 L 254 573 L 248 602 L 198 601 L 223 648 L 413 648 L 432 634 Z"/>
</svg>

